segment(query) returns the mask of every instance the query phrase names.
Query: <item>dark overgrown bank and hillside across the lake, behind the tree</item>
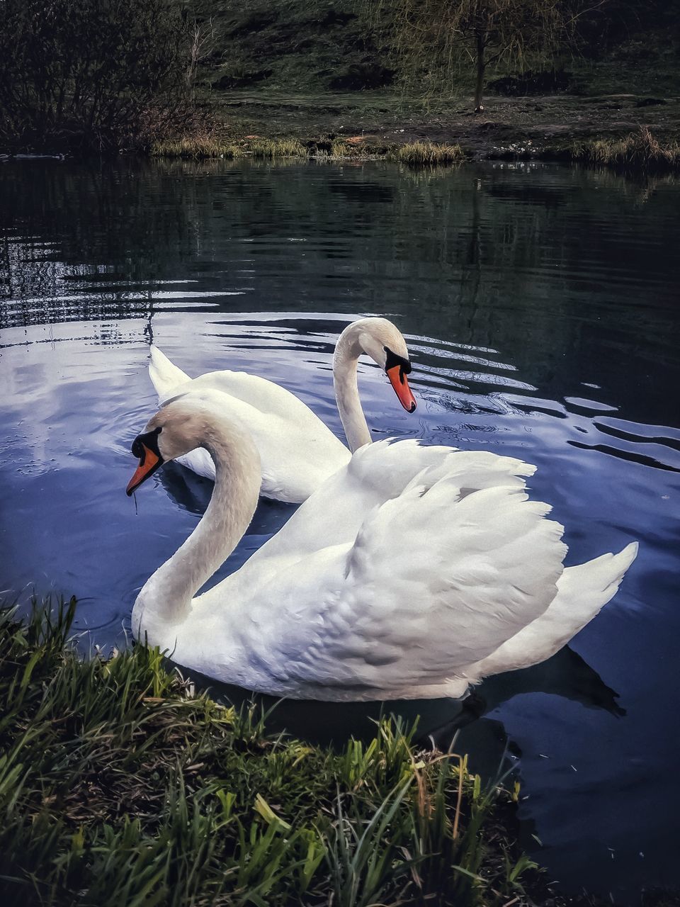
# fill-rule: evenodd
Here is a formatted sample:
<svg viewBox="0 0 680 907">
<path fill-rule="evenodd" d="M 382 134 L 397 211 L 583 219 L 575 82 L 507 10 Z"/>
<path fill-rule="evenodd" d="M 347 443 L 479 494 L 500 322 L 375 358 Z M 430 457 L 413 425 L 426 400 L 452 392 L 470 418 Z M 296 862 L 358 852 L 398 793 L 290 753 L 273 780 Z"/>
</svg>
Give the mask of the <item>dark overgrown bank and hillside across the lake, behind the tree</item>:
<svg viewBox="0 0 680 907">
<path fill-rule="evenodd" d="M 29 6 L 14 0 L 3 18 L 0 156 L 144 150 L 175 137 L 165 152 L 181 156 L 276 157 L 272 142 L 292 142 L 318 157 L 387 157 L 423 143 L 540 159 L 580 143 L 589 161 L 601 158 L 591 145 L 642 127 L 662 144 L 680 139 L 680 16 L 662 0 L 596 4 L 577 48 L 519 68 L 496 60 L 479 114 L 470 48 L 452 67 L 433 53 L 413 73 L 391 50 L 384 5 L 366 15 L 355 0 L 171 0 L 169 17 L 160 0 L 77 10 L 59 0 L 37 31 L 40 5 Z M 59 65 L 47 73 L 44 59 Z"/>
</svg>

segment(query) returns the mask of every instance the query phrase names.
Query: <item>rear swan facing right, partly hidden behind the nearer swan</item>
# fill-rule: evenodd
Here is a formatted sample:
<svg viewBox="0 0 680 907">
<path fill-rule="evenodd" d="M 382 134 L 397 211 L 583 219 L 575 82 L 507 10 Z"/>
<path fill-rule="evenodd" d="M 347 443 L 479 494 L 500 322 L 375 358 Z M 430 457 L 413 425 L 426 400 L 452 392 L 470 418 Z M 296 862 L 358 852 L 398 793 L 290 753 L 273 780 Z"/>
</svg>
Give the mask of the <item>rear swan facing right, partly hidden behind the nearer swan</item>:
<svg viewBox="0 0 680 907">
<path fill-rule="evenodd" d="M 356 363 L 366 353 L 384 369 L 399 401 L 409 413 L 415 400 L 408 385 L 411 371 L 406 341 L 386 318 L 360 318 L 338 337 L 333 357 L 335 400 L 349 450 L 312 410 L 267 378 L 247 372 L 208 372 L 189 378 L 151 346 L 149 374 L 159 402 L 189 389 L 219 390 L 225 406 L 252 435 L 262 462 L 260 493 L 289 503 L 305 501 L 330 475 L 349 463 L 355 450 L 371 441 L 356 386 Z M 215 479 L 215 464 L 206 450 L 179 457 L 199 475 Z"/>
</svg>

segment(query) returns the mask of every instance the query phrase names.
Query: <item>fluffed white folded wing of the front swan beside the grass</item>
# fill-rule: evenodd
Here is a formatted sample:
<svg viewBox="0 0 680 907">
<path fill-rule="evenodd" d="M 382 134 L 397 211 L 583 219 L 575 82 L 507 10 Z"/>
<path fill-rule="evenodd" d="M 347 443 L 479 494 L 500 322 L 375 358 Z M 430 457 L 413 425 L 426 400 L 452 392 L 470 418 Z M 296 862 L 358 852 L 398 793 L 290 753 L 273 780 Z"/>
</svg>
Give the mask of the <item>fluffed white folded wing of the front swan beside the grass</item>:
<svg viewBox="0 0 680 907">
<path fill-rule="evenodd" d="M 288 679 L 383 690 L 443 681 L 548 608 L 566 546 L 547 505 L 521 481 L 461 499 L 452 477 L 424 478 L 368 514 L 320 598 L 303 596 L 298 619 L 277 623 L 268 641 Z M 297 577 L 305 571 L 301 561 Z"/>
</svg>

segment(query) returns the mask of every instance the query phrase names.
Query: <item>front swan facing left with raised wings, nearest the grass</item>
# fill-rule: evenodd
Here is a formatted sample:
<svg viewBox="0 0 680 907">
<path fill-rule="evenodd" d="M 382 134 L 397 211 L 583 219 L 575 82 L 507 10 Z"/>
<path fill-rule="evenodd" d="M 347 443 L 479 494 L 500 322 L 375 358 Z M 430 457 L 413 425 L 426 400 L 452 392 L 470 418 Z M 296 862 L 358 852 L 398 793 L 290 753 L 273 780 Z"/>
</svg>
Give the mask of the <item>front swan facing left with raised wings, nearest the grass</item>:
<svg viewBox="0 0 680 907">
<path fill-rule="evenodd" d="M 529 501 L 535 467 L 415 440 L 366 444 L 235 573 L 197 595 L 257 505 L 257 446 L 219 392 L 163 405 L 133 444 L 130 495 L 196 446 L 216 469 L 196 529 L 141 588 L 138 639 L 209 677 L 322 700 L 461 697 L 549 658 L 636 557 L 565 567 L 563 527 Z M 195 598 L 193 596 L 196 596 Z"/>
</svg>

